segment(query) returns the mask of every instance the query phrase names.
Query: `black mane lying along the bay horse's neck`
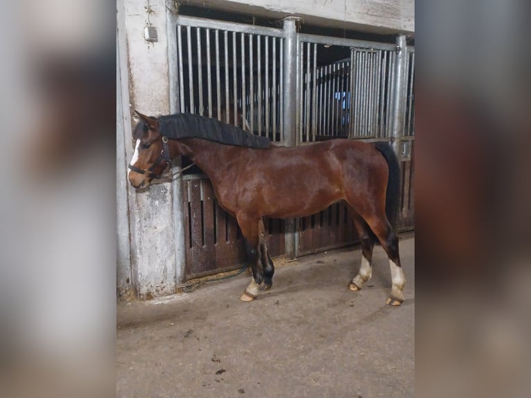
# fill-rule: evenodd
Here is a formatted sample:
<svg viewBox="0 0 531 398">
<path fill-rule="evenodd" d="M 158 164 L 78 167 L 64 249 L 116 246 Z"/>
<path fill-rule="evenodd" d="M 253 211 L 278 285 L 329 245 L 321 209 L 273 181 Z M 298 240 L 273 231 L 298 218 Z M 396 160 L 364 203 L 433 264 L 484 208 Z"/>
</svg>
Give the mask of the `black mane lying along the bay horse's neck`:
<svg viewBox="0 0 531 398">
<path fill-rule="evenodd" d="M 202 138 L 219 144 L 269 148 L 267 137 L 245 132 L 231 124 L 222 123 L 198 114 L 171 114 L 157 117 L 160 134 L 169 139 Z"/>
</svg>

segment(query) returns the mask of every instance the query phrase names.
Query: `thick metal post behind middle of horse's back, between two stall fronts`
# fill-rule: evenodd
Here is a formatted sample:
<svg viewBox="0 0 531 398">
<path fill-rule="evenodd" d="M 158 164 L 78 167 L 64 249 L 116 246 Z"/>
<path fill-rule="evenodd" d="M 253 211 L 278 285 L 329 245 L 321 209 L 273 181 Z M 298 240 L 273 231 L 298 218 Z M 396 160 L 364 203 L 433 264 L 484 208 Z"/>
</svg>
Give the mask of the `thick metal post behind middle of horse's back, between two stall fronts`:
<svg viewBox="0 0 531 398">
<path fill-rule="evenodd" d="M 282 130 L 284 130 L 284 139 L 287 146 L 297 145 L 297 132 L 295 131 L 295 110 L 297 103 L 295 102 L 295 94 L 297 92 L 297 28 L 295 22 L 297 17 L 287 17 L 284 19 L 284 123 Z M 297 250 L 297 234 L 296 234 L 295 219 L 286 220 L 285 236 L 286 236 L 286 257 L 295 257 Z"/>
</svg>

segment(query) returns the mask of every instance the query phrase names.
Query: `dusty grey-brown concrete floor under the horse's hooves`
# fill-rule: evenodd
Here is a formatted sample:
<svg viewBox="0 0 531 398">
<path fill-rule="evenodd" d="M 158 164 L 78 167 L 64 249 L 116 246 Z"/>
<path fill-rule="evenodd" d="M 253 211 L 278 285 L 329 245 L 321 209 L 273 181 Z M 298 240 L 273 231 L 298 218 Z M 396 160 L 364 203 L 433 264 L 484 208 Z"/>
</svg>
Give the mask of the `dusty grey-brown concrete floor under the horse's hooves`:
<svg viewBox="0 0 531 398">
<path fill-rule="evenodd" d="M 116 397 L 412 397 L 415 238 L 401 239 L 408 284 L 385 305 L 382 248 L 360 292 L 347 284 L 360 250 L 299 258 L 277 268 L 258 300 L 241 275 L 151 302 L 119 303 Z"/>
</svg>

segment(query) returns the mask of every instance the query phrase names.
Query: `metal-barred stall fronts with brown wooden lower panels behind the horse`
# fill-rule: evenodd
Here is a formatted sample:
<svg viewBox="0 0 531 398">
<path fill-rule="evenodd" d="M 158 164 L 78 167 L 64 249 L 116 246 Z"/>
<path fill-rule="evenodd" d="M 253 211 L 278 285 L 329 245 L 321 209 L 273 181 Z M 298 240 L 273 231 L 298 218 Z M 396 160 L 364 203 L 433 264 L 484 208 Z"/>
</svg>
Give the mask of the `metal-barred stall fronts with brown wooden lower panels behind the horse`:
<svg viewBox="0 0 531 398">
<path fill-rule="evenodd" d="M 166 32 L 171 44 L 169 113 L 213 117 L 280 146 L 337 138 L 390 142 L 401 166 L 398 227 L 413 229 L 415 48 L 406 45 L 405 36 L 369 42 L 360 40 L 360 34 L 352 35 L 358 39 L 315 35 L 320 29 L 312 30 L 309 23 L 305 29 L 295 20 L 284 21 L 280 29 L 263 26 L 263 21 L 246 25 L 237 15 L 225 15 L 231 21 L 186 16 L 187 10 L 182 6 L 180 15 L 166 15 L 166 21 L 176 27 Z M 129 78 L 134 80 L 134 71 Z M 135 107 L 146 109 L 141 103 Z M 182 159 L 183 166 L 188 162 Z M 160 233 L 159 237 L 168 240 L 160 245 L 176 247 L 174 260 L 165 254 L 166 267 L 175 268 L 174 280 L 182 283 L 241 268 L 247 258 L 241 230 L 218 204 L 207 176 L 193 167 L 184 172 L 181 184 L 177 180 L 168 190 L 172 202 L 164 206 L 173 207 L 174 232 L 171 237 Z M 133 200 L 130 205 L 142 202 Z M 295 220 L 265 218 L 264 227 L 272 257 L 300 257 L 359 242 L 342 202 Z M 146 233 L 132 232 L 137 241 L 132 242 L 132 266 L 126 270 L 130 274 L 135 267 L 149 269 L 148 254 L 144 259 L 135 252 L 146 241 L 142 238 Z M 172 275 L 164 269 L 161 275 Z M 142 275 L 152 272 L 146 270 Z M 155 275 L 153 282 L 134 275 L 128 278 L 137 284 L 138 297 L 157 295 L 155 279 Z"/>
</svg>

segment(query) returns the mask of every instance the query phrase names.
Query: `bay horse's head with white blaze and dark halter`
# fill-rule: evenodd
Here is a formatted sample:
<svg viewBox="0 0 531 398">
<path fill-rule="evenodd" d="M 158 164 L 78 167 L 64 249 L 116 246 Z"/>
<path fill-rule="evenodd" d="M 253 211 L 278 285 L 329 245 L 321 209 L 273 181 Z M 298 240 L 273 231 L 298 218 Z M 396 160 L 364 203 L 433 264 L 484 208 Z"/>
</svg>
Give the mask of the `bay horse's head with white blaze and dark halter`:
<svg viewBox="0 0 531 398">
<path fill-rule="evenodd" d="M 137 189 L 149 187 L 153 178 L 160 178 L 171 164 L 168 139 L 159 133 L 159 121 L 153 116 L 145 116 L 135 111 L 140 118 L 132 132 L 136 139 L 134 154 L 129 164 L 129 181 Z"/>
</svg>

